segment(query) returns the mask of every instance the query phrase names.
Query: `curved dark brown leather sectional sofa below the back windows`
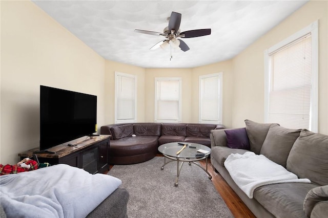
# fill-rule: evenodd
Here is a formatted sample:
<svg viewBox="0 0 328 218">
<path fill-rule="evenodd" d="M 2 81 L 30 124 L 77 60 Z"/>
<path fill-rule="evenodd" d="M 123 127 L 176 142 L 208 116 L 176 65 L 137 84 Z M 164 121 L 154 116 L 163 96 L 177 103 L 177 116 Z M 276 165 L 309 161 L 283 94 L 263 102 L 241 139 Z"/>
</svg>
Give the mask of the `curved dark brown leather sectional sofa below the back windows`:
<svg viewBox="0 0 328 218">
<path fill-rule="evenodd" d="M 222 128 L 221 124 L 121 123 L 101 126 L 100 134 L 112 135 L 111 164 L 135 164 L 152 159 L 158 146 L 169 142 L 193 142 L 210 147 L 210 131 Z"/>
</svg>

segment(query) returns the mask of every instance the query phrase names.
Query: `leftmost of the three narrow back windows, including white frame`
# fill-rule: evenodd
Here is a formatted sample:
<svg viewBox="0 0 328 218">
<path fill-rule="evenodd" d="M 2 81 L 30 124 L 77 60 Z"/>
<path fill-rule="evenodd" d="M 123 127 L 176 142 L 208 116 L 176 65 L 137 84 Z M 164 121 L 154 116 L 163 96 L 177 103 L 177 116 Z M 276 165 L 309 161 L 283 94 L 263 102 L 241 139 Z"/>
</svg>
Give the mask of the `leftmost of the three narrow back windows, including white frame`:
<svg viewBox="0 0 328 218">
<path fill-rule="evenodd" d="M 137 77 L 115 72 L 115 123 L 136 122 Z"/>
</svg>

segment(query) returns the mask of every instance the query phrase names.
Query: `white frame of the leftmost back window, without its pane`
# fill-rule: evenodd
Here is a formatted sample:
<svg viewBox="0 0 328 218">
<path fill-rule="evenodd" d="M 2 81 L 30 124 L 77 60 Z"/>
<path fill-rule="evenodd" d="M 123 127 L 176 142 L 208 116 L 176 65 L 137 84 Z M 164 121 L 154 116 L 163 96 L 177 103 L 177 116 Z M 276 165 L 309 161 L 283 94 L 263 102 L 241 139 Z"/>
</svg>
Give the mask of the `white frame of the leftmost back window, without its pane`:
<svg viewBox="0 0 328 218">
<path fill-rule="evenodd" d="M 119 77 L 127 77 L 134 79 L 134 119 L 117 119 L 117 93 L 118 93 L 118 79 Z M 115 121 L 114 123 L 130 123 L 137 122 L 137 76 L 133 74 L 115 72 Z"/>
</svg>

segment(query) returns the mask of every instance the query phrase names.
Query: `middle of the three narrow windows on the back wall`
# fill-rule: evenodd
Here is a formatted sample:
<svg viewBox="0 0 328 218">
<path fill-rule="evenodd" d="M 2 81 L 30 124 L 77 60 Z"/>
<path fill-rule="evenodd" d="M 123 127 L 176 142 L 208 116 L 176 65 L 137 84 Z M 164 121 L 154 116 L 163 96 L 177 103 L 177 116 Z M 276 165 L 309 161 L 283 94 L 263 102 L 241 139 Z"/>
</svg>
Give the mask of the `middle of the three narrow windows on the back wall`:
<svg viewBox="0 0 328 218">
<path fill-rule="evenodd" d="M 181 122 L 181 78 L 155 78 L 155 122 Z"/>
</svg>

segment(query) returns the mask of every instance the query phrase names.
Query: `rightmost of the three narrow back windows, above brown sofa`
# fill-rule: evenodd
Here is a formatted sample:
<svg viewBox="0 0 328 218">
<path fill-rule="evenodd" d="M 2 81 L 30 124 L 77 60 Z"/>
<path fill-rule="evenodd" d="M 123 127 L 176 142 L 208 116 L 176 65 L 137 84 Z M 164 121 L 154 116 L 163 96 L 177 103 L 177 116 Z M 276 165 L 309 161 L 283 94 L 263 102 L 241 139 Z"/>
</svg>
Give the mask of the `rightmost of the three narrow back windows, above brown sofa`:
<svg viewBox="0 0 328 218">
<path fill-rule="evenodd" d="M 199 76 L 199 123 L 222 123 L 222 72 Z"/>
</svg>

